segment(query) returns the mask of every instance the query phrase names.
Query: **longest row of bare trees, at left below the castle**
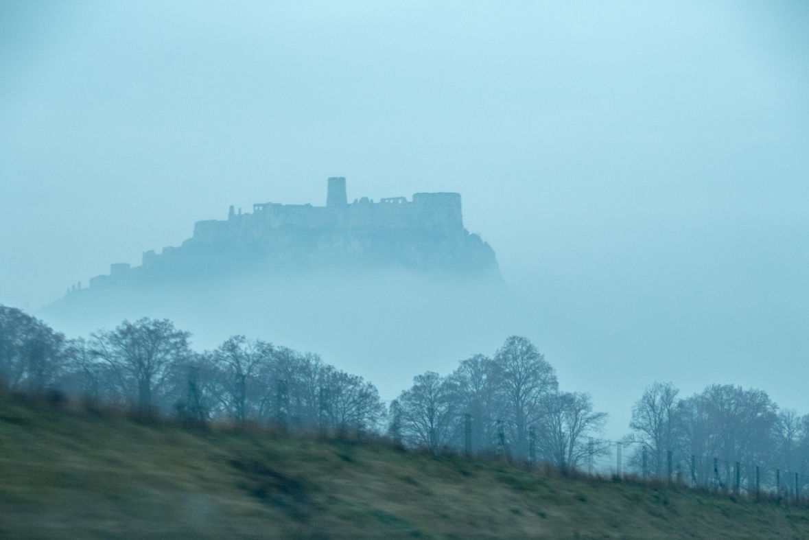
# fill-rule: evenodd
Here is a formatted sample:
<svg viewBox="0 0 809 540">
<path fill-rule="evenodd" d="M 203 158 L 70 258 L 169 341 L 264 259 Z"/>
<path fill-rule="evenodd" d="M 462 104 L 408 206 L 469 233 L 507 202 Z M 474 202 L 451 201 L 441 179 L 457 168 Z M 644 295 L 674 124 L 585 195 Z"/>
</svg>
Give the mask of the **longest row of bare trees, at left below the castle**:
<svg viewBox="0 0 809 540">
<path fill-rule="evenodd" d="M 364 430 L 384 422 L 386 407 L 375 386 L 320 356 L 244 335 L 194 352 L 189 338 L 171 321 L 140 319 L 89 340 L 67 340 L 40 320 L 0 306 L 0 375 L 11 390 L 58 389 L 200 421 Z"/>
</svg>

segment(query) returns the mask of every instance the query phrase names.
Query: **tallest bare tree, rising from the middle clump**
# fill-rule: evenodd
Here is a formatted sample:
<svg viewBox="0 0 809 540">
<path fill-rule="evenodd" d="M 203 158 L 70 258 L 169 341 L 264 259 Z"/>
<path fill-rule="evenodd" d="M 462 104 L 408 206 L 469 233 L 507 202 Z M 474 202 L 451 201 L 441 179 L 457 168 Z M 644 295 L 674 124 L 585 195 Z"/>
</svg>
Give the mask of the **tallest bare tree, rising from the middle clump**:
<svg viewBox="0 0 809 540">
<path fill-rule="evenodd" d="M 507 420 L 515 431 L 515 449 L 518 455 L 524 455 L 528 425 L 540 419 L 542 399 L 559 386 L 556 373 L 529 340 L 516 335 L 495 353 L 494 365 Z"/>
</svg>

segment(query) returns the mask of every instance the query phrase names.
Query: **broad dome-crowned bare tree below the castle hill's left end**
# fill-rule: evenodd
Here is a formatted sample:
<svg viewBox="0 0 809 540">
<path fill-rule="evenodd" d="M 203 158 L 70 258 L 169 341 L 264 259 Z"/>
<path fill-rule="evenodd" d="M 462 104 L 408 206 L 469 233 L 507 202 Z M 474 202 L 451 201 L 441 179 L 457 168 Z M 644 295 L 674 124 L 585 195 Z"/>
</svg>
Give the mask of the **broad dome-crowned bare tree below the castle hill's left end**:
<svg viewBox="0 0 809 540">
<path fill-rule="evenodd" d="M 188 356 L 186 331 L 168 319 L 124 321 L 114 331 L 92 335 L 92 351 L 115 371 L 121 390 L 142 411 L 155 405 L 155 392 L 167 382 L 172 368 Z"/>
</svg>

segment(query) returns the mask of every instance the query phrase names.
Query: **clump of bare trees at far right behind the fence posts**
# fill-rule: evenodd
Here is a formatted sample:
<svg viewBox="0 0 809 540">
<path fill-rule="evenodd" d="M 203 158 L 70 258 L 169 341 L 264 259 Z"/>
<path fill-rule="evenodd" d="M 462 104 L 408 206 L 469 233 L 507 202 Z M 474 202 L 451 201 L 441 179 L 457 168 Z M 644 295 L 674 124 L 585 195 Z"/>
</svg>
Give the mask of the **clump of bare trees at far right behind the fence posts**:
<svg viewBox="0 0 809 540">
<path fill-rule="evenodd" d="M 645 454 L 650 475 L 668 474 L 671 452 L 689 472 L 693 456 L 698 485 L 735 487 L 736 463 L 742 487 L 756 485 L 756 466 L 770 484 L 776 471 L 798 473 L 802 485 L 809 479 L 809 415 L 779 410 L 763 390 L 713 385 L 683 399 L 671 383 L 654 383 L 635 403 L 629 427 L 629 442 L 637 443 L 631 464 L 641 470 Z"/>
</svg>

